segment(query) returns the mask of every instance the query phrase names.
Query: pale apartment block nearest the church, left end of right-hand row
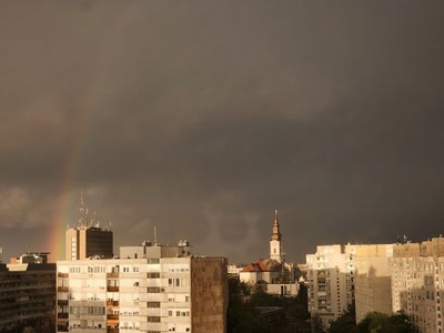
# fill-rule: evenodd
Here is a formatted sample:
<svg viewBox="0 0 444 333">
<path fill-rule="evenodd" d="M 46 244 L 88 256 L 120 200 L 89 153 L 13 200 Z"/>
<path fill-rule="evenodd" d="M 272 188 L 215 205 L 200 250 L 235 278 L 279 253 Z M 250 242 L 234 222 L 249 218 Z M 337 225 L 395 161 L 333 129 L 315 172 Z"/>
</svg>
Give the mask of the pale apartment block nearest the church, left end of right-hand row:
<svg viewBox="0 0 444 333">
<path fill-rule="evenodd" d="M 306 286 L 312 322 L 324 330 L 353 302 L 356 245 L 322 245 L 306 255 Z"/>
</svg>

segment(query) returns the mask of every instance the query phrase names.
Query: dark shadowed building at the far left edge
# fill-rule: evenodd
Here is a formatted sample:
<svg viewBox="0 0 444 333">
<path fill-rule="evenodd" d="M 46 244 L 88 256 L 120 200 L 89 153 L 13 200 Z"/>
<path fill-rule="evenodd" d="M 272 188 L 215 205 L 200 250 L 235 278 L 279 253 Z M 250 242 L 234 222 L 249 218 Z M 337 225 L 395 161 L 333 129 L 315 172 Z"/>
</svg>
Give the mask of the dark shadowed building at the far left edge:
<svg viewBox="0 0 444 333">
<path fill-rule="evenodd" d="M 56 264 L 48 252 L 26 253 L 0 263 L 0 332 L 12 332 L 51 315 L 56 304 Z"/>
</svg>

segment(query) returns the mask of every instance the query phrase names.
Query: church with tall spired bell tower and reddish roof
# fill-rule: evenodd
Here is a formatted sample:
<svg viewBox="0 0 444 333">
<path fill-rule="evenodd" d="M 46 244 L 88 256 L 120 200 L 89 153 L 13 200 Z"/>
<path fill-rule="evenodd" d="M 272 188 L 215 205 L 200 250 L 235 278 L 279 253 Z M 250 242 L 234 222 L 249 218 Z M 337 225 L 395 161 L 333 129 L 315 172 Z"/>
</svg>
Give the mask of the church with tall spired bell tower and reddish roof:
<svg viewBox="0 0 444 333">
<path fill-rule="evenodd" d="M 282 235 L 279 225 L 278 210 L 274 211 L 272 234 L 270 238 L 270 258 L 259 259 L 245 265 L 239 272 L 241 282 L 260 287 L 261 290 L 279 295 L 296 295 L 296 283 L 293 263 L 285 262 L 282 251 Z"/>
</svg>

